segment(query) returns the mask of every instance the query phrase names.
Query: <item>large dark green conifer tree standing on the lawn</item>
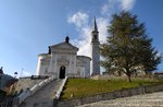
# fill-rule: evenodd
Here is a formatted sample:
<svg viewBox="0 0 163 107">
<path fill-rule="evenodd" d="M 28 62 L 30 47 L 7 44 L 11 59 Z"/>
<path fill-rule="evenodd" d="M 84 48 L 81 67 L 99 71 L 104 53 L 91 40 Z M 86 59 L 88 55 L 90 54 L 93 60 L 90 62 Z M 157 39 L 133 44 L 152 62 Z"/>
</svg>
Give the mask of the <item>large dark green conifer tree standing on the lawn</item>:
<svg viewBox="0 0 163 107">
<path fill-rule="evenodd" d="M 101 45 L 102 67 L 108 71 L 123 71 L 131 82 L 133 72 L 141 67 L 146 72 L 156 70 L 161 56 L 152 47 L 143 23 L 129 12 L 114 14 L 108 28 L 106 43 Z"/>
</svg>

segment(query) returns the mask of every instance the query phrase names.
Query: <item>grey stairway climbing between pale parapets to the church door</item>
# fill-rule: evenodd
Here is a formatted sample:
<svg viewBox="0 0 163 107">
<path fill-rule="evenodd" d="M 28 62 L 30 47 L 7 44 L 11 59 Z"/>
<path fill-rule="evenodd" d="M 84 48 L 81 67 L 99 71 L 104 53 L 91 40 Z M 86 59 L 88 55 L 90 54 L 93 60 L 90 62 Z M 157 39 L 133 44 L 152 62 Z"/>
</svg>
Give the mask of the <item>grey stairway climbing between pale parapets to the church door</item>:
<svg viewBox="0 0 163 107">
<path fill-rule="evenodd" d="M 33 96 L 25 99 L 20 107 L 53 107 L 53 98 L 63 80 L 54 80 L 42 88 L 37 91 Z"/>
</svg>

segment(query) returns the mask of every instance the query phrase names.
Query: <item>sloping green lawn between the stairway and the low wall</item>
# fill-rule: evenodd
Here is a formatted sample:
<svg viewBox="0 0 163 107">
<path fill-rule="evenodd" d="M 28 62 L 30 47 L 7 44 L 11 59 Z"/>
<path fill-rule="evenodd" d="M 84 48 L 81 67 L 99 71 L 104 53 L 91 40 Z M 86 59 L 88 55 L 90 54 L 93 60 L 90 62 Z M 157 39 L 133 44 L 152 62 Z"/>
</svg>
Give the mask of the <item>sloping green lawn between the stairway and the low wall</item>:
<svg viewBox="0 0 163 107">
<path fill-rule="evenodd" d="M 156 80 L 133 80 L 129 83 L 127 80 L 91 80 L 91 79 L 68 79 L 62 99 L 71 99 L 76 97 L 84 97 L 95 94 L 113 92 L 122 88 L 138 87 L 139 85 L 151 85 L 160 83 Z M 73 97 L 72 97 L 73 95 Z"/>
</svg>

